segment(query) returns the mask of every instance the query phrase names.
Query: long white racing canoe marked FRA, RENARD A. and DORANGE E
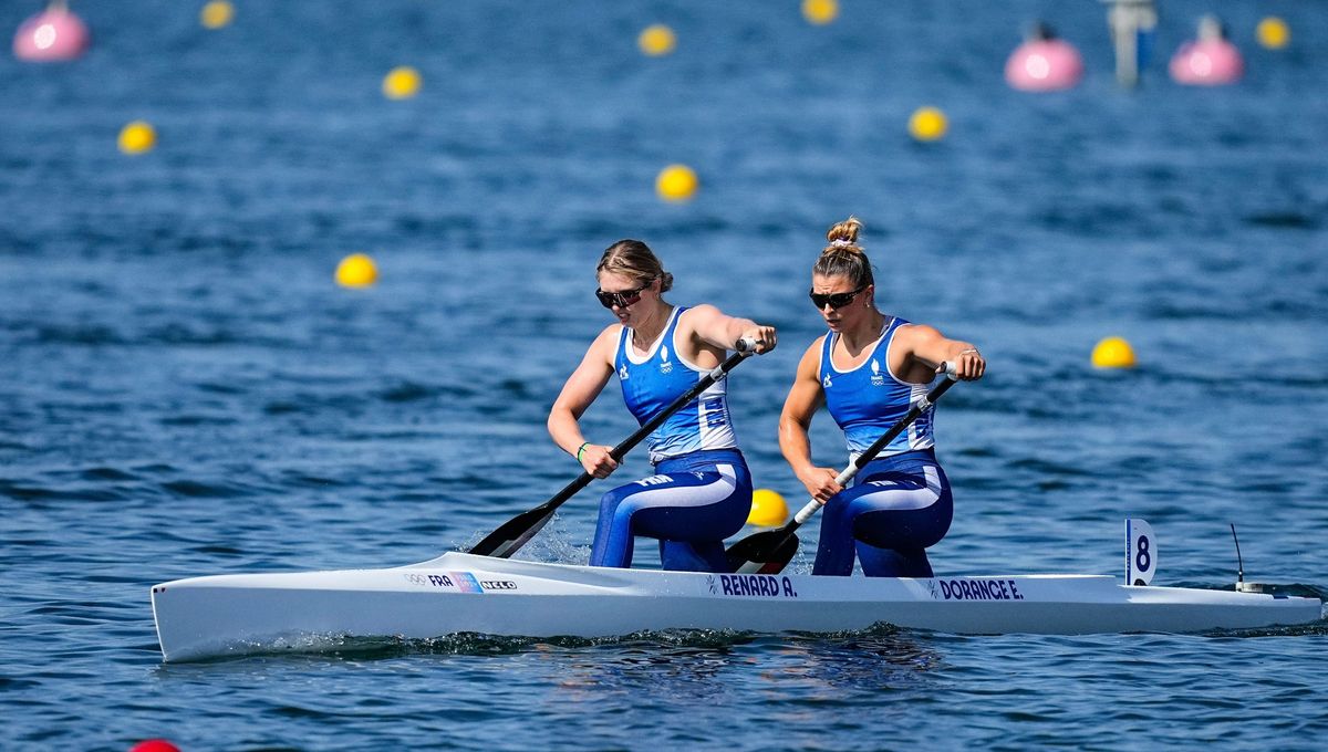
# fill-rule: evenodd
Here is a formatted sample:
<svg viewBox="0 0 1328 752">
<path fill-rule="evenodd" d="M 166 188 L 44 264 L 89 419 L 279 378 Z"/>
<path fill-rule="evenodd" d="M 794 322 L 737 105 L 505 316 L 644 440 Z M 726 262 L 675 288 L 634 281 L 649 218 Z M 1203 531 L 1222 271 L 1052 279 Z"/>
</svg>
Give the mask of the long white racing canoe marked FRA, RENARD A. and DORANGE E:
<svg viewBox="0 0 1328 752">
<path fill-rule="evenodd" d="M 1201 633 L 1313 622 L 1323 607 L 1319 598 L 1126 586 L 1094 574 L 697 574 L 466 553 L 393 569 L 194 577 L 157 585 L 151 598 L 166 660 L 316 649 L 343 635 L 829 633 L 882 622 L 952 634 Z"/>
</svg>

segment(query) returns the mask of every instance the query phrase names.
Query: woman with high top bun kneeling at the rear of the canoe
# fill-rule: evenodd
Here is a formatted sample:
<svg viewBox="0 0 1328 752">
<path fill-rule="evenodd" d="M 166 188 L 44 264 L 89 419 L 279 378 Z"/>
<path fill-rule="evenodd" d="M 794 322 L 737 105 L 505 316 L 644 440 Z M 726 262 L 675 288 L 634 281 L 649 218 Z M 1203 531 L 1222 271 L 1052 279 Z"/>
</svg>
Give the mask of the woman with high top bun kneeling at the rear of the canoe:
<svg viewBox="0 0 1328 752">
<path fill-rule="evenodd" d="M 798 480 L 825 505 L 813 574 L 847 577 L 854 554 L 867 577 L 931 577 L 927 548 L 950 531 L 950 481 L 936 463 L 928 408 L 849 488 L 838 471 L 811 462 L 807 427 L 823 405 L 857 458 L 927 394 L 943 362 L 964 381 L 987 367 L 971 342 L 876 309 L 871 261 L 858 245 L 862 223 L 850 216 L 826 233 L 811 268 L 811 304 L 826 334 L 807 347 L 780 415 L 780 450 Z"/>
</svg>

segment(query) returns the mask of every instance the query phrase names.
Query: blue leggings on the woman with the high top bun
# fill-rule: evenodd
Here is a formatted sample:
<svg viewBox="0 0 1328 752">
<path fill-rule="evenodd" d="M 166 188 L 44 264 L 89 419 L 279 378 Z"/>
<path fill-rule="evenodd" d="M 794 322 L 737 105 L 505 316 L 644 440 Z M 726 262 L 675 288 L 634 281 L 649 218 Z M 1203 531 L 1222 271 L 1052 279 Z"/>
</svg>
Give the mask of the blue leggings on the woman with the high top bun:
<svg viewBox="0 0 1328 752">
<path fill-rule="evenodd" d="M 853 574 L 854 553 L 867 577 L 931 577 L 926 548 L 946 537 L 955 505 L 932 450 L 878 458 L 854 485 L 821 511 L 813 574 Z"/>
</svg>

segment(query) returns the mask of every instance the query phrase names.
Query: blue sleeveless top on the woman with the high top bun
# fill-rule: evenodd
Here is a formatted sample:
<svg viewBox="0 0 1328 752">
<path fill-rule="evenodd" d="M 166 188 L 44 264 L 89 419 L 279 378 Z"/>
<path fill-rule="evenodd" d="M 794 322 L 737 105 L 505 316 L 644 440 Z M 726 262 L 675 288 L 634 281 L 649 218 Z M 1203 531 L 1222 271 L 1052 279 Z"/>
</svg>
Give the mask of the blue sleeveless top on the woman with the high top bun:
<svg viewBox="0 0 1328 752">
<path fill-rule="evenodd" d="M 895 378 L 890 370 L 890 342 L 895 332 L 908 324 L 903 318 L 892 318 L 886 324 L 880 338 L 871 346 L 867 358 L 846 371 L 834 367 L 830 353 L 838 336 L 826 334 L 821 346 L 821 389 L 826 395 L 826 407 L 834 422 L 843 430 L 849 452 L 858 456 L 882 434 L 890 430 L 912 403 L 927 394 L 927 385 L 908 383 Z M 935 446 L 931 434 L 935 407 L 918 416 L 907 431 L 895 436 L 876 456 L 898 455 Z"/>
</svg>

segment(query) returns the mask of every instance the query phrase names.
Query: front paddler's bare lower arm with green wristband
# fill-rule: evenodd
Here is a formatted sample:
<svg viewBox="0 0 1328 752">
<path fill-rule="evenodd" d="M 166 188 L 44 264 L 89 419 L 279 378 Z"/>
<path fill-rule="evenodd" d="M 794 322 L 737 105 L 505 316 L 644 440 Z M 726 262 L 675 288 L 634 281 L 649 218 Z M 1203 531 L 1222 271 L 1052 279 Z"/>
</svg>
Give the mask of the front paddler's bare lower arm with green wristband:
<svg viewBox="0 0 1328 752">
<path fill-rule="evenodd" d="M 580 365 L 567 377 L 563 390 L 548 411 L 548 435 L 554 438 L 554 443 L 575 456 L 582 468 L 595 477 L 607 477 L 618 470 L 618 462 L 608 455 L 612 447 L 590 444 L 586 440 L 578 420 L 614 375 L 614 349 L 618 346 L 620 330 L 622 328 L 614 324 L 599 333 L 586 350 Z"/>
</svg>

